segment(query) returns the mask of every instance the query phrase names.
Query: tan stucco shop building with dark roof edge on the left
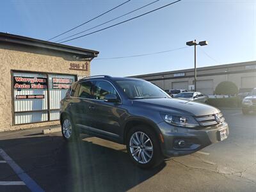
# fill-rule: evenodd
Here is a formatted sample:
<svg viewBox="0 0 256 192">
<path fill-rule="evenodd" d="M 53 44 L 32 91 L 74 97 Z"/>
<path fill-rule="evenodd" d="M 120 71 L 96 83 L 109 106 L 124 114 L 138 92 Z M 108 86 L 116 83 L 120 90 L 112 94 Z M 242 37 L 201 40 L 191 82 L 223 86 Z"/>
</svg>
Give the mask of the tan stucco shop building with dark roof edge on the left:
<svg viewBox="0 0 256 192">
<path fill-rule="evenodd" d="M 98 54 L 0 33 L 0 132 L 58 124 L 60 100 Z"/>
</svg>

